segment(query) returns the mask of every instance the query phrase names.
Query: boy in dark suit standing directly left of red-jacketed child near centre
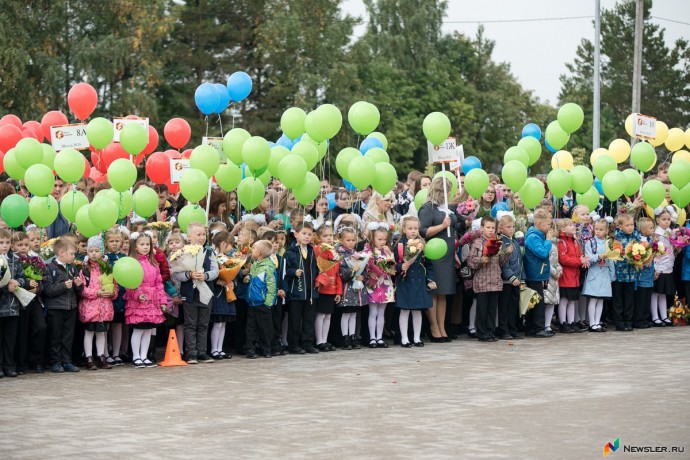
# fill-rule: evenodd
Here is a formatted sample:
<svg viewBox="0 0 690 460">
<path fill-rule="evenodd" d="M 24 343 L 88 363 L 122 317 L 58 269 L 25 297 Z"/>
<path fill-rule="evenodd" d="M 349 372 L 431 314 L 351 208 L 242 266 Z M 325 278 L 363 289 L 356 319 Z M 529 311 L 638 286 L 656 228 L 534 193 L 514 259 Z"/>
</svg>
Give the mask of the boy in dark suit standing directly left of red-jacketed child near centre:
<svg viewBox="0 0 690 460">
<path fill-rule="evenodd" d="M 311 223 L 300 222 L 294 230 L 295 244 L 285 252 L 285 286 L 290 299 L 288 351 L 300 355 L 315 354 L 319 350 L 314 346 L 314 301 L 319 294 L 314 289 L 314 281 L 319 272 L 311 245 L 314 229 Z"/>
</svg>

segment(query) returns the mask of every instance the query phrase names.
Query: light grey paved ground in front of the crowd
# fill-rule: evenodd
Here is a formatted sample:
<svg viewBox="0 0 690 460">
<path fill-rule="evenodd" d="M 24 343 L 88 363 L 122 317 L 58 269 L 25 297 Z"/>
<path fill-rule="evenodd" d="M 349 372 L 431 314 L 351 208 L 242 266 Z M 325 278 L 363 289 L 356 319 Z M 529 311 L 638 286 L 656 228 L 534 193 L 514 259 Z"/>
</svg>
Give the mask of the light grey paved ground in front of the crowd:
<svg viewBox="0 0 690 460">
<path fill-rule="evenodd" d="M 684 446 L 690 327 L 0 380 L 2 458 L 601 458 Z M 622 449 L 621 449 L 622 450 Z"/>
</svg>

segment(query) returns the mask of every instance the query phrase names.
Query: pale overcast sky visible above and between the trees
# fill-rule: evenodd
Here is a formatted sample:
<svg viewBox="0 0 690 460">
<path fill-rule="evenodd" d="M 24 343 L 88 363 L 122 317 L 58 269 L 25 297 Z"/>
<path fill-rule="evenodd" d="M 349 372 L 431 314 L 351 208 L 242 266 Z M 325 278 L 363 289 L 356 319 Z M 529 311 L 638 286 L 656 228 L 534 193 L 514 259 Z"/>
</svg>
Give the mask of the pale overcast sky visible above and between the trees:
<svg viewBox="0 0 690 460">
<path fill-rule="evenodd" d="M 602 9 L 615 4 L 615 0 L 601 0 Z M 344 0 L 342 8 L 367 19 L 362 0 Z M 525 89 L 555 105 L 561 87 L 559 77 L 567 73 L 565 64 L 573 61 L 583 38 L 594 41 L 594 12 L 594 0 L 448 0 L 443 30 L 474 37 L 482 22 L 485 36 L 495 41 L 494 61 L 509 63 Z M 586 18 L 521 21 L 583 16 Z M 668 46 L 678 38 L 690 38 L 690 0 L 654 0 L 652 16 L 653 22 L 666 29 Z M 364 29 L 358 26 L 355 33 L 361 35 Z M 630 59 L 632 53 L 631 49 Z"/>
</svg>

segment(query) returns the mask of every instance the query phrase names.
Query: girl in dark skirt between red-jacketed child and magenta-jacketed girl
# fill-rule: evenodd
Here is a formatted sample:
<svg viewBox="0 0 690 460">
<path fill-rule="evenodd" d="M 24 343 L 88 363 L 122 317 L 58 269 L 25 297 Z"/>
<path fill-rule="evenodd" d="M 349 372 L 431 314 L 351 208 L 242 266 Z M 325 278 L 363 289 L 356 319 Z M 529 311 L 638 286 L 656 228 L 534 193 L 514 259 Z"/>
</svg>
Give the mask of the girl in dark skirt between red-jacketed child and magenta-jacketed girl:
<svg viewBox="0 0 690 460">
<path fill-rule="evenodd" d="M 357 246 L 357 230 L 349 225 L 338 227 L 338 240 L 340 244 L 336 250 L 340 255 L 340 279 L 343 283 L 343 295 L 338 304 L 342 311 L 340 319 L 340 331 L 343 334 L 345 345 L 343 350 L 359 349 L 355 333 L 357 326 L 357 312 L 369 304 L 369 294 L 363 288 L 364 261 L 355 251 Z"/>
</svg>

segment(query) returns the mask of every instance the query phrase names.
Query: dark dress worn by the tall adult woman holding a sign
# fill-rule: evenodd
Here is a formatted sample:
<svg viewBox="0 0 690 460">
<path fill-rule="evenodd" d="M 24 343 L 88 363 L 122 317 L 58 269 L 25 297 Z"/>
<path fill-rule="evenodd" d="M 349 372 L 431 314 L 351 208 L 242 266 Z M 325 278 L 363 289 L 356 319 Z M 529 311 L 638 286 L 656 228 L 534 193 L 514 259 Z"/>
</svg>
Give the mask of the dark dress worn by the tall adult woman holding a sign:
<svg viewBox="0 0 690 460">
<path fill-rule="evenodd" d="M 436 225 L 443 223 L 446 218 L 446 213 L 440 211 L 438 206 L 427 202 L 419 210 L 419 233 L 426 241 L 433 238 L 440 238 L 448 245 L 446 255 L 439 260 L 432 261 L 434 267 L 434 276 L 436 277 L 436 290 L 432 292 L 434 295 L 452 295 L 455 294 L 456 275 L 455 275 L 455 226 L 458 218 L 454 213 L 450 214 L 450 237 L 448 231 L 443 230 L 431 238 L 426 236 L 427 230 Z"/>
</svg>

